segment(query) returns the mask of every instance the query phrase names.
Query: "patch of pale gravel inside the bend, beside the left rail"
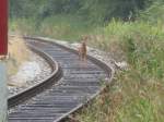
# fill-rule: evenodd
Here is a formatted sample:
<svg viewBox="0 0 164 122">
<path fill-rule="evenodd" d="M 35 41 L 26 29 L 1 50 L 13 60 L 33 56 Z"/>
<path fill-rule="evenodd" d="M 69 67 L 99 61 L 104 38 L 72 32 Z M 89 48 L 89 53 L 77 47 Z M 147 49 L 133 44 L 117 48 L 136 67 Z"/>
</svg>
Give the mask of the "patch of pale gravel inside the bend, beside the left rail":
<svg viewBox="0 0 164 122">
<path fill-rule="evenodd" d="M 9 96 L 15 95 L 37 83 L 51 73 L 50 65 L 40 56 L 31 52 L 30 61 L 19 68 L 19 72 L 8 80 Z"/>
</svg>

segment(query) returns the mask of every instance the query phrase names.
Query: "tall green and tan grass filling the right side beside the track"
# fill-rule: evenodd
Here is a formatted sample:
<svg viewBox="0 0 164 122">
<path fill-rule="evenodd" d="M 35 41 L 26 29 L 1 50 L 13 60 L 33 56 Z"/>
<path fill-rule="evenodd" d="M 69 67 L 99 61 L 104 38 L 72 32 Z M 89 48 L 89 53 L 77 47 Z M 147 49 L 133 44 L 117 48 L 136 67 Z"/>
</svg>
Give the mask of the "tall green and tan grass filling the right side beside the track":
<svg viewBox="0 0 164 122">
<path fill-rule="evenodd" d="M 113 21 L 91 45 L 122 52 L 129 70 L 119 72 L 96 100 L 77 118 L 81 122 L 163 122 L 164 30 L 149 22 Z M 115 45 L 115 46 L 114 46 Z M 116 46 L 117 45 L 117 46 Z M 118 47 L 118 48 L 116 48 Z"/>
</svg>

